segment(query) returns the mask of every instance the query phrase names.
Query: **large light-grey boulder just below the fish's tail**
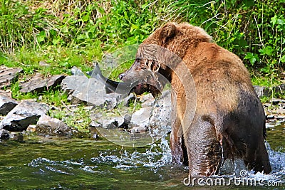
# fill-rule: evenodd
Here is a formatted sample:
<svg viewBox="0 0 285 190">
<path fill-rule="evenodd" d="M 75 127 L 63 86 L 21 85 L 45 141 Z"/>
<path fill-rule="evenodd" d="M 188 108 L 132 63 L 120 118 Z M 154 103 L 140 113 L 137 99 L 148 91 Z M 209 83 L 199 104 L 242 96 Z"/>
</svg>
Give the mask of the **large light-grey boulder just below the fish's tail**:
<svg viewBox="0 0 285 190">
<path fill-rule="evenodd" d="M 62 83 L 63 92 L 68 93 L 68 100 L 73 104 L 81 102 L 87 105 L 113 108 L 123 101 L 121 95 L 105 93 L 105 86 L 95 78 L 88 79 L 85 75 L 66 77 Z"/>
</svg>

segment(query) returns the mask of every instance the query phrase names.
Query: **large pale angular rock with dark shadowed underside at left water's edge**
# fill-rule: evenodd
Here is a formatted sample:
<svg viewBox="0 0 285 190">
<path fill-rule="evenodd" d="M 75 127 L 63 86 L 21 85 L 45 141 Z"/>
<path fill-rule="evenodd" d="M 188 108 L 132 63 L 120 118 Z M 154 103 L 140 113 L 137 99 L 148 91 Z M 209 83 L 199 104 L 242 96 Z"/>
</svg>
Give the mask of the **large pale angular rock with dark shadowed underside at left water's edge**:
<svg viewBox="0 0 285 190">
<path fill-rule="evenodd" d="M 24 131 L 28 125 L 35 125 L 38 118 L 45 115 L 48 110 L 49 107 L 46 104 L 22 100 L 0 122 L 0 129 L 3 128 L 11 132 Z"/>
</svg>

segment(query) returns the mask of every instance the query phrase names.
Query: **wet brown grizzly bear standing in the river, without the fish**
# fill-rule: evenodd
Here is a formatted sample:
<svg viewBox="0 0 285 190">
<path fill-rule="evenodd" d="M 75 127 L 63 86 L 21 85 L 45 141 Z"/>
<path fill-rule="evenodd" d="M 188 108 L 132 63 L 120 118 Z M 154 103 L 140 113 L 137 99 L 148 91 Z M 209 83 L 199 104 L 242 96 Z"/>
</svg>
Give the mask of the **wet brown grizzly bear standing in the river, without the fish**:
<svg viewBox="0 0 285 190">
<path fill-rule="evenodd" d="M 189 165 L 190 176 L 217 174 L 222 160 L 236 158 L 268 174 L 264 110 L 249 72 L 211 40 L 197 26 L 166 23 L 143 41 L 135 63 L 119 77 L 136 82 L 135 93 L 155 96 L 170 81 L 172 159 Z"/>
</svg>

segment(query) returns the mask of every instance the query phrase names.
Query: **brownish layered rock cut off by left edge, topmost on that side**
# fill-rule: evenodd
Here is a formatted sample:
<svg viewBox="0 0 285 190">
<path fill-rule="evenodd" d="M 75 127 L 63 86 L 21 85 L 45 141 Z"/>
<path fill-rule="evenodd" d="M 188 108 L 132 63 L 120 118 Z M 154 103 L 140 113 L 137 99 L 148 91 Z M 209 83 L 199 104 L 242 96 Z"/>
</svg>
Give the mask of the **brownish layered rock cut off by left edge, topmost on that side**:
<svg viewBox="0 0 285 190">
<path fill-rule="evenodd" d="M 4 86 L 9 86 L 13 83 L 18 74 L 21 73 L 23 69 L 21 68 L 7 68 L 4 65 L 0 66 L 0 88 Z"/>
</svg>

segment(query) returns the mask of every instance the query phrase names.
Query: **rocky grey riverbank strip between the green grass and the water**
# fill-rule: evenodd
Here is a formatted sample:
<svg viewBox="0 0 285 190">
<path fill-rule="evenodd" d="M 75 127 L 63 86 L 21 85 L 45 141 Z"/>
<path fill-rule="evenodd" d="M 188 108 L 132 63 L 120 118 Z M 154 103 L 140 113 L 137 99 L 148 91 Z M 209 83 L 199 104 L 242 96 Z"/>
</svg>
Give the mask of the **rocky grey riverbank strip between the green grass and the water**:
<svg viewBox="0 0 285 190">
<path fill-rule="evenodd" d="M 76 127 L 68 126 L 64 120 L 51 117 L 51 110 L 58 107 L 43 102 L 41 95 L 34 100 L 14 100 L 10 85 L 19 80 L 21 72 L 21 68 L 0 66 L 0 139 L 23 141 L 23 133 L 97 139 L 100 135 L 98 129 L 101 128 L 120 130 L 130 134 L 131 137 L 136 137 L 135 134 L 153 132 L 154 129 L 163 128 L 164 133 L 170 131 L 170 90 L 165 90 L 156 101 L 151 95 L 122 97 L 108 92 L 100 81 L 88 78 L 76 67 L 72 68 L 73 75 L 70 76 L 43 77 L 37 73 L 32 78 L 19 83 L 21 93 L 41 94 L 45 90 L 60 88 L 68 95 L 68 101 L 71 102 L 71 105 L 63 103 L 63 107 L 70 112 L 78 105 L 85 105 L 84 109 L 90 112 L 91 122 L 88 132 L 82 132 Z M 269 88 L 261 86 L 254 88 L 259 96 L 270 95 Z M 285 85 L 275 87 L 276 90 L 283 93 Z M 118 112 L 122 107 L 130 107 L 130 102 L 134 101 L 140 105 L 140 109 L 114 114 L 115 110 Z M 285 121 L 285 100 L 272 99 L 270 103 L 264 104 L 264 110 L 268 127 L 275 125 L 276 122 Z M 66 112 L 66 115 L 70 112 Z M 113 114 L 105 114 L 105 112 Z M 80 123 L 80 121 L 74 122 Z"/>
</svg>

